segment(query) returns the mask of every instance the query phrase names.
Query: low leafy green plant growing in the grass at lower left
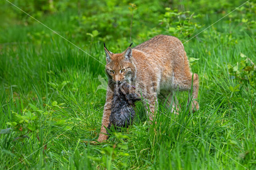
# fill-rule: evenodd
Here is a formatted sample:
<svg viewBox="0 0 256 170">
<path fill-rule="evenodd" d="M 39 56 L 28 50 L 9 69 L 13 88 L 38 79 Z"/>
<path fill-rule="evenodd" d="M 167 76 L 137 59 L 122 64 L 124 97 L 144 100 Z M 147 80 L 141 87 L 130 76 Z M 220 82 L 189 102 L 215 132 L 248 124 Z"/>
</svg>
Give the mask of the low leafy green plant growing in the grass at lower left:
<svg viewBox="0 0 256 170">
<path fill-rule="evenodd" d="M 45 129 L 49 126 L 61 127 L 64 130 L 68 130 L 70 126 L 66 125 L 66 120 L 53 118 L 52 115 L 56 109 L 64 105 L 63 103 L 58 104 L 56 101 L 52 102 L 52 105 L 45 105 L 44 110 L 36 107 L 29 103 L 30 109 L 23 109 L 21 113 L 12 111 L 12 121 L 6 124 L 10 127 L 2 129 L 1 133 L 16 132 L 16 139 L 24 138 L 38 138 L 40 129 Z"/>
</svg>

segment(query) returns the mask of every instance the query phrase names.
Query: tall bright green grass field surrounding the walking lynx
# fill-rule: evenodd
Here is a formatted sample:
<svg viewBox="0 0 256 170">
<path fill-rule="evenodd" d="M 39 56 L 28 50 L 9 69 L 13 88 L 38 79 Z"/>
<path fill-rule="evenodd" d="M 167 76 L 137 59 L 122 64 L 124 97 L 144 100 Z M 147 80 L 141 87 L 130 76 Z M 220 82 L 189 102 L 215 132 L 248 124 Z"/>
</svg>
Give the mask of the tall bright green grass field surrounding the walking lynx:
<svg viewBox="0 0 256 170">
<path fill-rule="evenodd" d="M 102 41 L 72 36 L 73 13 L 40 21 L 105 64 Z M 222 16 L 198 19 L 194 35 Z M 256 169 L 255 29 L 228 21 L 184 44 L 200 80 L 199 111 L 189 113 L 188 93 L 179 92 L 180 115 L 162 102 L 150 125 L 139 102 L 134 125 L 99 145 L 88 141 L 100 133 L 104 64 L 36 21 L 0 29 L 0 168 Z M 116 53 L 128 46 L 106 44 Z"/>
</svg>

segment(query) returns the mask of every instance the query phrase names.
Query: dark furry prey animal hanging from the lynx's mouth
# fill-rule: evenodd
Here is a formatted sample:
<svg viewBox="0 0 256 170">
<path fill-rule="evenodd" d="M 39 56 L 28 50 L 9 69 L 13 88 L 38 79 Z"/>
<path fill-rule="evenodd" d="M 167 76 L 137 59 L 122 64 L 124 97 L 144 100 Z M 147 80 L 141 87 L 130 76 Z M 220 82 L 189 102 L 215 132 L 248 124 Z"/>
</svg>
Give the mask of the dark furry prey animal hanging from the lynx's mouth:
<svg viewBox="0 0 256 170">
<path fill-rule="evenodd" d="M 127 82 L 119 85 L 114 89 L 114 96 L 112 100 L 110 123 L 116 127 L 128 127 L 132 124 L 135 115 L 134 106 L 135 102 L 141 100 L 140 94 L 136 92 L 135 87 Z"/>
</svg>

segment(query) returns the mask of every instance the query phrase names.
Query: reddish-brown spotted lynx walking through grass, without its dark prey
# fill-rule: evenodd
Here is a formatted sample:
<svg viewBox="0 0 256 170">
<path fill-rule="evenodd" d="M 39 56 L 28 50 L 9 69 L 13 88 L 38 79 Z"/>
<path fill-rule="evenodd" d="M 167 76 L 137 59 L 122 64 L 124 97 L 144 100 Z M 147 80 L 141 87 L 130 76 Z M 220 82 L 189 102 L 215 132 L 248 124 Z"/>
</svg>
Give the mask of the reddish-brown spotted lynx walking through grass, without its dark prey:
<svg viewBox="0 0 256 170">
<path fill-rule="evenodd" d="M 108 51 L 105 44 L 104 49 L 109 80 L 98 142 L 108 138 L 105 134 L 110 122 L 114 86 L 124 81 L 144 94 L 151 121 L 157 113 L 158 94 L 167 96 L 170 107 L 176 108 L 178 112 L 178 102 L 176 100 L 173 102 L 172 95 L 176 90 L 190 90 L 192 86 L 192 109 L 199 109 L 196 100 L 198 75 L 190 72 L 184 46 L 178 38 L 157 35 L 134 48 L 128 47 L 123 53 L 112 53 Z M 174 109 L 172 110 L 175 112 Z"/>
</svg>

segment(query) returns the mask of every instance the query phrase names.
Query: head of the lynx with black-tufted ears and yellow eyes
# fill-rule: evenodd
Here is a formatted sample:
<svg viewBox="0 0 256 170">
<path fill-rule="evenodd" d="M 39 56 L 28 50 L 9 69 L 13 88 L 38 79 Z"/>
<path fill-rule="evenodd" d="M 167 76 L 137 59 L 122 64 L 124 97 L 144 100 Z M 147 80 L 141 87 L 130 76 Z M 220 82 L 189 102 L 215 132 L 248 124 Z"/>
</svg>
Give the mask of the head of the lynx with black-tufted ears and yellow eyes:
<svg viewBox="0 0 256 170">
<path fill-rule="evenodd" d="M 132 43 L 131 43 L 132 45 Z M 106 73 L 115 83 L 131 82 L 136 77 L 136 66 L 132 59 L 131 45 L 123 53 L 111 53 L 105 46 Z"/>
</svg>

